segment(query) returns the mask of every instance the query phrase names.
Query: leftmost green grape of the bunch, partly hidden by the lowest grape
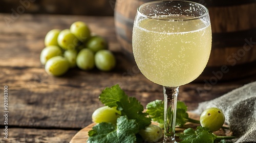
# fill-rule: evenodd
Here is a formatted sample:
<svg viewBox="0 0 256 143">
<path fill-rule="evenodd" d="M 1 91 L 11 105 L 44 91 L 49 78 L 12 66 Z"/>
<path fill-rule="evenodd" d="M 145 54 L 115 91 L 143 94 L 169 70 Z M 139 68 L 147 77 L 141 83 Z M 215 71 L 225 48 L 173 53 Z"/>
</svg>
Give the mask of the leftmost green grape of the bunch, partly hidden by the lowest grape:
<svg viewBox="0 0 256 143">
<path fill-rule="evenodd" d="M 61 56 L 62 52 L 61 49 L 56 45 L 49 45 L 45 47 L 40 54 L 40 61 L 43 65 L 46 64 L 46 62 L 55 56 Z"/>
</svg>

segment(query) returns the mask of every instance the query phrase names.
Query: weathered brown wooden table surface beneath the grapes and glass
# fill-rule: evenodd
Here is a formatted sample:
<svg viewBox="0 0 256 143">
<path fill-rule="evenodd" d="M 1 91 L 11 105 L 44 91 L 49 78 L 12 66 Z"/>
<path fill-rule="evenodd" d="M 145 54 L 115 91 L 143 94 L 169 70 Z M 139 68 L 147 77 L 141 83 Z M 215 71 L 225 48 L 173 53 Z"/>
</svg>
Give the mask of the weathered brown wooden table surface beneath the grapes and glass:
<svg viewBox="0 0 256 143">
<path fill-rule="evenodd" d="M 113 17 L 0 14 L 0 142 L 69 142 L 82 128 L 92 123 L 91 115 L 102 106 L 99 93 L 105 87 L 119 84 L 129 96 L 145 105 L 163 99 L 162 87 L 148 81 L 137 66 L 124 58 L 115 36 Z M 65 76 L 46 74 L 39 55 L 44 38 L 51 29 L 67 29 L 82 20 L 92 32 L 109 41 L 117 58 L 111 72 L 74 68 Z M 204 88 L 204 82 L 180 87 L 178 99 L 196 109 L 199 102 L 211 100 L 256 80 L 256 76 L 218 82 Z M 4 86 L 8 86 L 8 139 L 4 138 Z"/>
</svg>

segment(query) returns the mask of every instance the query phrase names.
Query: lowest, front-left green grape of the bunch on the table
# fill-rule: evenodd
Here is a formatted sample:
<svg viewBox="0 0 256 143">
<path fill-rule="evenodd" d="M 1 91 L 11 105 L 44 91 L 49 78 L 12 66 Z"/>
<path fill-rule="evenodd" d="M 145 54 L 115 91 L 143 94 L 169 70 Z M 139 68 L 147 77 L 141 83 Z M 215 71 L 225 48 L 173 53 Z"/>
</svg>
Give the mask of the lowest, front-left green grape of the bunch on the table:
<svg viewBox="0 0 256 143">
<path fill-rule="evenodd" d="M 69 62 L 61 56 L 52 57 L 46 62 L 45 70 L 49 75 L 61 76 L 69 69 Z"/>
</svg>

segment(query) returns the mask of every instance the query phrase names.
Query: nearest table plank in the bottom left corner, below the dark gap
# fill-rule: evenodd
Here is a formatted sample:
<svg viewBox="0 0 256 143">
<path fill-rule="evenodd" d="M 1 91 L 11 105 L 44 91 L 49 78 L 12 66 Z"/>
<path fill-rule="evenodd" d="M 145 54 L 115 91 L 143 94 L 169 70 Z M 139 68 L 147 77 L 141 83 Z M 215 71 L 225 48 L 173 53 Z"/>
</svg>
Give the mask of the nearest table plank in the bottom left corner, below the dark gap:
<svg viewBox="0 0 256 143">
<path fill-rule="evenodd" d="M 0 142 L 5 143 L 68 143 L 77 133 L 75 130 L 9 128 L 8 139 L 1 133 Z"/>
</svg>

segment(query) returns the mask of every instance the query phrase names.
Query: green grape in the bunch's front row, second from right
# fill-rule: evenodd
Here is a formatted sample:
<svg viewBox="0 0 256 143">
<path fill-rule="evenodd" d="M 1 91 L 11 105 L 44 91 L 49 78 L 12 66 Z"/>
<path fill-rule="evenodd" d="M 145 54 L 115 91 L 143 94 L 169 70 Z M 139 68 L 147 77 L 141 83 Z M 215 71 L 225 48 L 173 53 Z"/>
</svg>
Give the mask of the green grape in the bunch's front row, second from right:
<svg viewBox="0 0 256 143">
<path fill-rule="evenodd" d="M 83 70 L 92 69 L 95 66 L 94 53 L 90 49 L 82 49 L 76 57 L 76 64 Z"/>
</svg>

